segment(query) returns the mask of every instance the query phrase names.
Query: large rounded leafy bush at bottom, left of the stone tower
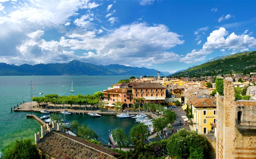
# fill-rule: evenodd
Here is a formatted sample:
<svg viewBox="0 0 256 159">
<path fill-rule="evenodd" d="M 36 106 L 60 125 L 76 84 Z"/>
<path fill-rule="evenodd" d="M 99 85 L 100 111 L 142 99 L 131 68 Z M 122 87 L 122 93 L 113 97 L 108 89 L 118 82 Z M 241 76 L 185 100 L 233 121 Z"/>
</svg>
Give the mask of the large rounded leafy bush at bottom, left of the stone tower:
<svg viewBox="0 0 256 159">
<path fill-rule="evenodd" d="M 190 147 L 202 148 L 204 155 L 209 154 L 211 150 L 211 144 L 206 137 L 197 134 L 196 131 L 187 131 L 184 128 L 173 134 L 167 143 L 168 152 L 177 158 L 187 159 L 190 155 Z"/>
</svg>

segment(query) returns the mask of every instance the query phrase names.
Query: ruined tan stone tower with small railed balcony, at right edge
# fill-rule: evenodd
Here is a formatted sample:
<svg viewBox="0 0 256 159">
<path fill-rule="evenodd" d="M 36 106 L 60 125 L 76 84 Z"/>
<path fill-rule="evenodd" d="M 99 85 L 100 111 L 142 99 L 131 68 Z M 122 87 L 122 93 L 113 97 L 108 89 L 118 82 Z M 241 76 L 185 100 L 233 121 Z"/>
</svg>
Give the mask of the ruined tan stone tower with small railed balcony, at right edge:
<svg viewBox="0 0 256 159">
<path fill-rule="evenodd" d="M 216 158 L 255 159 L 256 100 L 235 100 L 234 94 L 233 79 L 227 77 L 224 95 L 217 93 Z"/>
</svg>

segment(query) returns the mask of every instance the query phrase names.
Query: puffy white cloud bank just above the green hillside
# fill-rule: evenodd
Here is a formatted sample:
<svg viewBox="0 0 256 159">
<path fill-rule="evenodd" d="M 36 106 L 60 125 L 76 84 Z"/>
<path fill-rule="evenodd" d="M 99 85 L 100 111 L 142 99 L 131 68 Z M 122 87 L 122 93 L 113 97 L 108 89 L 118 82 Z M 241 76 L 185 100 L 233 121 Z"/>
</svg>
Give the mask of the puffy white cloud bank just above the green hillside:
<svg viewBox="0 0 256 159">
<path fill-rule="evenodd" d="M 217 49 L 221 50 L 222 52 L 227 49 L 231 50 L 233 53 L 237 53 L 238 51 L 249 51 L 249 48 L 255 47 L 256 39 L 254 37 L 245 34 L 236 35 L 234 32 L 228 35 L 226 29 L 221 27 L 218 30 L 210 33 L 210 36 L 207 37 L 207 42 L 204 43 L 202 49 L 198 51 L 194 49 L 184 58 L 181 58 L 180 61 L 185 63 L 196 63 L 203 61 L 205 60 L 206 55 Z"/>
</svg>

